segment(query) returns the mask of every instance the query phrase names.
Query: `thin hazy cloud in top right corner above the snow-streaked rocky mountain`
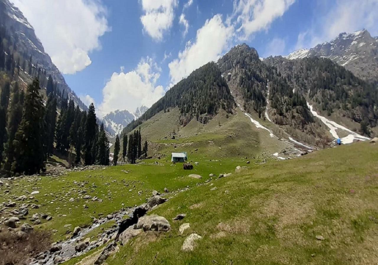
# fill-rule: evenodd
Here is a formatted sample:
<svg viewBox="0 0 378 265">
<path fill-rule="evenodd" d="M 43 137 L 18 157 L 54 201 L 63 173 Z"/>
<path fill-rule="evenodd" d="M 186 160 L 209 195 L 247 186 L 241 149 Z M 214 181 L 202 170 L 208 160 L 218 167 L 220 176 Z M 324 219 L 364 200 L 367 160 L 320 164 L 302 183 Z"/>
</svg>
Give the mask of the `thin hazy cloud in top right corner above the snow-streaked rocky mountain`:
<svg viewBox="0 0 378 265">
<path fill-rule="evenodd" d="M 313 47 L 329 41 L 341 32 L 354 32 L 363 28 L 378 35 L 378 0 L 338 0 L 332 9 L 321 6 L 316 11 L 318 16 L 312 27 L 298 35 L 295 49 Z"/>
</svg>

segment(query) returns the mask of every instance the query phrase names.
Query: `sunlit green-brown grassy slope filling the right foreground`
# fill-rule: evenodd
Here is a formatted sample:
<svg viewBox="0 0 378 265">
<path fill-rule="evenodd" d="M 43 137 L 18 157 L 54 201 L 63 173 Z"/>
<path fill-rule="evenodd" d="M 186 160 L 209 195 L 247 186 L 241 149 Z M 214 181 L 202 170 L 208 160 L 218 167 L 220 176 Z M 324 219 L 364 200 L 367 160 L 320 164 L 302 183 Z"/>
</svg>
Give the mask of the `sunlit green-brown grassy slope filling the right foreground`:
<svg viewBox="0 0 378 265">
<path fill-rule="evenodd" d="M 192 188 L 150 213 L 167 218 L 170 232 L 144 233 L 107 263 L 376 264 L 377 158 L 377 146 L 364 142 Z M 179 213 L 186 218 L 171 221 Z M 191 228 L 180 236 L 184 222 Z M 182 252 L 194 232 L 203 239 Z"/>
</svg>

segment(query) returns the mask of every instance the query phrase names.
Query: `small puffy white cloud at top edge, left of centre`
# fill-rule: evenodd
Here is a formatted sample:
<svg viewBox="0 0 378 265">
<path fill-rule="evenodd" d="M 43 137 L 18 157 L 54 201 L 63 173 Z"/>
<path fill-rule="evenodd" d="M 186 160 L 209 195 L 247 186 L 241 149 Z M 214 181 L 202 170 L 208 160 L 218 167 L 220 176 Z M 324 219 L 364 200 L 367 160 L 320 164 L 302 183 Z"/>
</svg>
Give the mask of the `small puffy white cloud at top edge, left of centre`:
<svg viewBox="0 0 378 265">
<path fill-rule="evenodd" d="M 144 30 L 153 40 L 163 40 L 163 33 L 172 27 L 177 0 L 142 0 Z"/>
</svg>

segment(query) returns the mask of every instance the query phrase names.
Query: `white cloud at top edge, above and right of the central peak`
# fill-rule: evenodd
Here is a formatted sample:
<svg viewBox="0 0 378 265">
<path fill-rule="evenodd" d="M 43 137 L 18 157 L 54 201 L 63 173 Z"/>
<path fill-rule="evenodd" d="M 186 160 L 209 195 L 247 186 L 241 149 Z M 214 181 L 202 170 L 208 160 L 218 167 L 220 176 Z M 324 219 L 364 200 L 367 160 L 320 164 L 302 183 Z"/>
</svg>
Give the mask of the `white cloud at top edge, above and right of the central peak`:
<svg viewBox="0 0 378 265">
<path fill-rule="evenodd" d="M 258 31 L 266 30 L 271 23 L 281 17 L 295 0 L 235 0 L 234 11 L 228 18 L 237 28 L 239 39 L 246 40 Z"/>
</svg>

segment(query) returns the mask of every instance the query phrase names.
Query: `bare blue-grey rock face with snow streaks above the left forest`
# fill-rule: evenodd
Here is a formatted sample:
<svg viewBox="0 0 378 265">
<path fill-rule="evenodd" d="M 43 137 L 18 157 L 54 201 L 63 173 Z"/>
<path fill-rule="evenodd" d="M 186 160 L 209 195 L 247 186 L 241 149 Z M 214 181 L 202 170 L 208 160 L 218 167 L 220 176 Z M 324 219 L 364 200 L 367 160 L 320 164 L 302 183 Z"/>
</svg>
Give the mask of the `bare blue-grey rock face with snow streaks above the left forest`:
<svg viewBox="0 0 378 265">
<path fill-rule="evenodd" d="M 87 106 L 82 103 L 79 97 L 67 85 L 63 75 L 43 49 L 33 26 L 29 24 L 22 12 L 9 0 L 0 0 L 0 24 L 5 28 L 9 38 L 12 38 L 12 43 L 15 43 L 14 47 L 11 48 L 13 54 L 17 53 L 19 56 L 21 55 L 23 60 L 31 60 L 35 69 L 41 69 L 46 72 L 46 76 L 51 75 L 53 77 L 60 92 L 65 91 L 68 97 L 74 100 L 75 104 L 79 105 L 82 109 L 87 109 Z M 23 70 L 24 72 L 20 72 L 19 75 L 20 81 L 21 83 L 28 83 L 34 76 L 27 74 L 26 69 Z M 42 82 L 41 84 L 43 85 Z"/>
</svg>

